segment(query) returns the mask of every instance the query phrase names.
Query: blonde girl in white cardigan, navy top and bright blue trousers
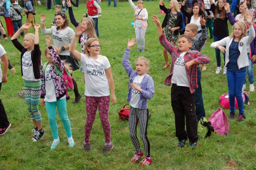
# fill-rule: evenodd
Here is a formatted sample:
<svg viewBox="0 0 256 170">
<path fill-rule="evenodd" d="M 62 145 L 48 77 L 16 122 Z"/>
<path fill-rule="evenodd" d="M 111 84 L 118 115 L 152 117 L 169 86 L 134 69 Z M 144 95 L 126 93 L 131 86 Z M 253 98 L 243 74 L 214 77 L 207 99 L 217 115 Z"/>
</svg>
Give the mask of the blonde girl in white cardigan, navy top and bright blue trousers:
<svg viewBox="0 0 256 170">
<path fill-rule="evenodd" d="M 249 36 L 247 35 L 247 26 L 244 22 L 238 21 L 233 26 L 233 31 L 229 37 L 221 41 L 213 42 L 212 48 L 218 48 L 221 52 L 226 52 L 227 80 L 228 80 L 228 99 L 230 103 L 229 118 L 233 119 L 235 116 L 235 98 L 238 103 L 239 115 L 236 121 L 243 121 L 245 119 L 245 112 L 243 109 L 242 87 L 246 77 L 246 66 L 249 65 L 247 55 L 247 46 L 255 37 L 255 31 L 252 26 L 252 14 L 246 18 L 249 26 Z M 226 46 L 226 48 L 224 47 Z"/>
</svg>

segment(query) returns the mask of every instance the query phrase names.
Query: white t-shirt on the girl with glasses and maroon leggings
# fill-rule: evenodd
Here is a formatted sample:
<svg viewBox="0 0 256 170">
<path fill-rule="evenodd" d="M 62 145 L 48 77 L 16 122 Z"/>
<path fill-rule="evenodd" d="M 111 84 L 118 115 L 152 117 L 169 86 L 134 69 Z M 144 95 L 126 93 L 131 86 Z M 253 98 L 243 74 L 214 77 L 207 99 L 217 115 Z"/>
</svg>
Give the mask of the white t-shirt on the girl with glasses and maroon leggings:
<svg viewBox="0 0 256 170">
<path fill-rule="evenodd" d="M 80 63 L 83 67 L 86 82 L 85 96 L 109 96 L 109 84 L 105 71 L 110 67 L 108 58 L 103 55 L 98 55 L 98 58 L 95 60 L 81 53 Z"/>
</svg>

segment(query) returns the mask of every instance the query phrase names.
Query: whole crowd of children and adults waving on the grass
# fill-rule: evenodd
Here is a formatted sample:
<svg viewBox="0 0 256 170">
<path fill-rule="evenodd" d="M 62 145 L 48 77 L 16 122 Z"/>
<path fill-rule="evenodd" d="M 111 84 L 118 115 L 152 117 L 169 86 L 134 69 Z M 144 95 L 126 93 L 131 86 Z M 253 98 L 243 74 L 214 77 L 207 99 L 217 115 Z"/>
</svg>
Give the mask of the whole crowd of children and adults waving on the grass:
<svg viewBox="0 0 256 170">
<path fill-rule="evenodd" d="M 35 24 L 32 2 L 30 0 L 24 0 L 24 2 L 23 15 L 27 15 L 27 19 L 23 25 L 22 8 L 16 0 L 2 0 L 0 7 L 6 3 L 7 15 L 4 18 L 6 24 L 8 24 L 7 32 L 11 36 L 13 45 L 21 53 L 20 66 L 21 75 L 24 79 L 25 100 L 34 125 L 32 141 L 37 142 L 45 135 L 42 127 L 42 116 L 38 108 L 40 102 L 43 107 L 46 107 L 54 139 L 50 149 L 54 150 L 60 142 L 56 122 L 56 107 L 67 134 L 69 147 L 74 147 L 75 142 L 72 137 L 66 106 L 66 100 L 69 100 L 69 96 L 65 80 L 59 74 L 59 71 L 63 73 L 69 67 L 72 77 L 72 71 L 79 69 L 80 62 L 80 71 L 83 72 L 85 83 L 86 108 L 83 149 L 86 152 L 91 151 L 90 135 L 98 109 L 105 135 L 105 144 L 101 153 L 110 152 L 114 146 L 111 142 L 111 126 L 108 119 L 109 103 L 112 102 L 115 105 L 117 98 L 115 97 L 111 65 L 106 56 L 100 55 L 101 45 L 98 40 L 98 17 L 101 17 L 100 6 L 96 0 L 87 0 L 85 18 L 81 22 L 77 22 L 71 7 L 72 0 L 67 0 L 67 2 L 63 0 L 62 6 L 59 4 L 55 6 L 56 14 L 54 20 L 50 23 L 54 26 L 47 29 L 45 14 L 40 15 L 41 25 Z M 143 8 L 142 0 L 137 1 L 137 6 L 132 0 L 128 0 L 128 2 L 134 10 L 136 35 L 136 39 L 128 40 L 122 59 L 122 65 L 129 77 L 127 101 L 130 103 L 130 116 L 128 126 L 135 148 L 135 154 L 131 161 L 133 163 L 137 162 L 144 155 L 137 138 L 137 125 L 139 123 L 140 138 L 145 149 L 145 158 L 141 161 L 141 166 L 146 166 L 152 163 L 150 142 L 147 137 L 149 118 L 147 101 L 154 96 L 154 81 L 149 75 L 150 61 L 145 57 L 139 57 L 136 61 L 136 70 L 133 70 L 129 55 L 135 41 L 137 42 L 137 52 L 145 51 L 148 12 Z M 250 12 L 252 8 L 250 1 L 239 3 L 241 14 L 236 16 L 232 15 L 230 5 L 226 0 L 218 0 L 217 2 L 213 2 L 213 0 L 184 0 L 183 2 L 171 0 L 169 8 L 165 7 L 163 0 L 160 0 L 159 5 L 165 13 L 162 24 L 156 15 L 153 15 L 151 20 L 158 28 L 159 41 L 163 46 L 164 69 L 170 67 L 170 73 L 164 84 L 172 85 L 171 104 L 175 116 L 177 146 L 184 147 L 189 139 L 189 146 L 194 148 L 198 142 L 198 120 L 201 116 L 205 117 L 200 82 L 200 65 L 202 65 L 202 71 L 204 71 L 206 70 L 206 64 L 210 62 L 210 58 L 201 53 L 201 49 L 205 48 L 208 39 L 208 30 L 210 39 L 214 39 L 211 47 L 215 48 L 217 59 L 215 73 L 219 74 L 223 69 L 223 74 L 227 76 L 230 102 L 229 118 L 233 119 L 235 117 L 236 98 L 239 106 L 239 114 L 236 120 L 241 122 L 245 119 L 242 90 L 246 89 L 247 74 L 250 83 L 249 89 L 254 91 L 252 65 L 256 61 L 256 50 L 254 49 L 256 44 L 255 14 Z M 115 3 L 114 6 L 116 7 Z M 78 4 L 75 7 L 78 7 Z M 76 27 L 75 31 L 69 26 L 65 14 L 66 9 L 69 11 L 70 22 Z M 233 25 L 230 35 L 228 20 Z M 34 34 L 28 33 L 31 27 L 34 29 Z M 41 33 L 46 35 L 47 47 L 43 55 L 48 61 L 44 64 L 41 63 L 39 28 L 41 28 Z M 163 28 L 165 29 L 163 30 Z M 7 40 L 7 36 L 2 30 L 0 26 L 1 35 L 4 36 L 4 40 Z M 180 37 L 178 37 L 179 34 Z M 48 35 L 51 35 L 52 38 Z M 23 44 L 18 41 L 20 36 L 24 36 Z M 77 40 L 80 43 L 80 51 L 76 50 Z M 176 43 L 178 43 L 178 46 L 176 46 Z M 171 54 L 171 63 L 169 63 L 168 53 Z M 223 68 L 221 67 L 220 53 L 224 55 Z M 0 45 L 1 60 L 4 64 L 3 72 L 0 69 L 0 90 L 2 83 L 7 83 L 7 67 L 11 65 L 2 45 Z M 80 102 L 82 95 L 78 91 L 74 78 L 72 78 L 72 83 L 74 85 L 75 104 Z M 10 126 L 4 105 L 0 100 L 0 135 L 4 135 Z"/>
</svg>

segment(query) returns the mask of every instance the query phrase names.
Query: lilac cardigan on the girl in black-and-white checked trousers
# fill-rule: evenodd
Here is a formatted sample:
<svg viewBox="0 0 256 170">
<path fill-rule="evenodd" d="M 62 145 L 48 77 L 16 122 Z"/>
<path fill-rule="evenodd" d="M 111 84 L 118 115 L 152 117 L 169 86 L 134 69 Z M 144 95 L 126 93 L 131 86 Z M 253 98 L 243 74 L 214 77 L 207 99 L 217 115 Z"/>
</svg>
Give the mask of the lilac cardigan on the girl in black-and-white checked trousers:
<svg viewBox="0 0 256 170">
<path fill-rule="evenodd" d="M 132 98 L 132 89 L 130 88 L 130 84 L 134 80 L 138 73 L 134 71 L 130 65 L 129 61 L 130 49 L 126 48 L 124 52 L 124 56 L 122 58 L 122 65 L 126 70 L 129 76 L 129 85 L 128 85 L 128 94 L 127 94 L 127 102 L 130 102 Z M 146 74 L 141 82 L 141 96 L 139 98 L 139 109 L 148 109 L 148 99 L 151 99 L 154 96 L 154 81 L 151 76 Z"/>
</svg>

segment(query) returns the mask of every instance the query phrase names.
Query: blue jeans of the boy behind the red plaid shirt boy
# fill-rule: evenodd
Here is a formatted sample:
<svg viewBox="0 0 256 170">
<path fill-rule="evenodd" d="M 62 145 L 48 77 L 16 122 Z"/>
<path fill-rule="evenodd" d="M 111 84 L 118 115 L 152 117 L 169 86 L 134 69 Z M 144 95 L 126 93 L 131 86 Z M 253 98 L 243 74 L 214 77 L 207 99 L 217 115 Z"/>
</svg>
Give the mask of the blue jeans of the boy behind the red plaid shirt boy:
<svg viewBox="0 0 256 170">
<path fill-rule="evenodd" d="M 198 88 L 195 89 L 195 112 L 197 115 L 197 121 L 199 121 L 201 116 L 205 117 L 204 101 L 201 86 L 201 71 L 197 72 L 197 85 Z"/>
</svg>

